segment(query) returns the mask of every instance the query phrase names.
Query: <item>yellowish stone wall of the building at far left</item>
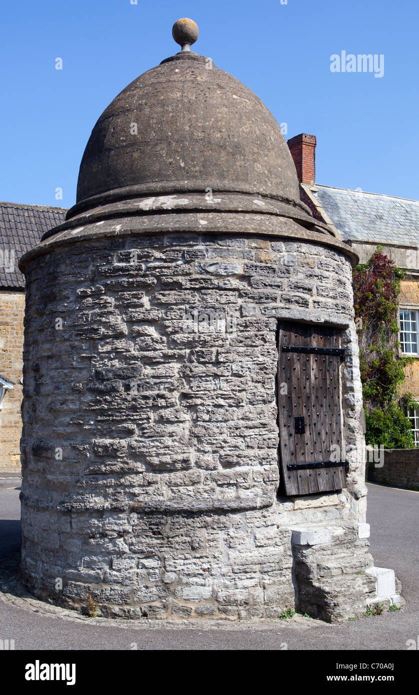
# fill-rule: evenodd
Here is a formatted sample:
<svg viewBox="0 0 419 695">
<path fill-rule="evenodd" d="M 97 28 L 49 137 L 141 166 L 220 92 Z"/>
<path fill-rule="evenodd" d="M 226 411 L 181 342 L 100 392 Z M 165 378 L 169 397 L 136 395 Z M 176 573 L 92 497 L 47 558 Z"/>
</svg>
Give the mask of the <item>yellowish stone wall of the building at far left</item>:
<svg viewBox="0 0 419 695">
<path fill-rule="evenodd" d="M 0 290 L 0 374 L 15 384 L 0 410 L 0 471 L 20 473 L 24 292 Z"/>
</svg>

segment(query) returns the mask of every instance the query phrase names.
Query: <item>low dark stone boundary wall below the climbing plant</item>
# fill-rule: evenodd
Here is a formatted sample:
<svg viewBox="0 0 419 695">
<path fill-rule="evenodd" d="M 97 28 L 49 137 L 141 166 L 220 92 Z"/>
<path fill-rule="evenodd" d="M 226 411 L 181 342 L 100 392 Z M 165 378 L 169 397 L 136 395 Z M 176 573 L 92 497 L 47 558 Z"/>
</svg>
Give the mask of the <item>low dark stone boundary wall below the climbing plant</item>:
<svg viewBox="0 0 419 695">
<path fill-rule="evenodd" d="M 384 449 L 377 464 L 368 464 L 368 480 L 419 489 L 419 449 Z"/>
</svg>

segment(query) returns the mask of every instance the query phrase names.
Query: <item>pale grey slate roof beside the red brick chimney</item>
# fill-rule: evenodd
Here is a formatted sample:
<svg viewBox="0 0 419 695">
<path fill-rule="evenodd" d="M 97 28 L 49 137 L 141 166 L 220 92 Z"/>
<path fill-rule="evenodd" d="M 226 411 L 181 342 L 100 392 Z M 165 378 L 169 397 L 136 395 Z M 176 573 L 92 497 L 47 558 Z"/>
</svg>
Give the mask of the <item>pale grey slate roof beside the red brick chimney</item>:
<svg viewBox="0 0 419 695">
<path fill-rule="evenodd" d="M 345 240 L 419 243 L 419 201 L 320 186 L 316 197 Z"/>
</svg>

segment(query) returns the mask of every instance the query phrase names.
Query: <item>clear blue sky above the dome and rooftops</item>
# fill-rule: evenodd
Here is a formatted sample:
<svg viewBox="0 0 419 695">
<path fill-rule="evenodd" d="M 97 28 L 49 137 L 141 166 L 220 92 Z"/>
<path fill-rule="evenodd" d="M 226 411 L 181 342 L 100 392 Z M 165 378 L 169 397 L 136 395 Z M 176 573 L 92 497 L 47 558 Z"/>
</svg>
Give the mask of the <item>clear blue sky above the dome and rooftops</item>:
<svg viewBox="0 0 419 695">
<path fill-rule="evenodd" d="M 179 17 L 199 25 L 199 54 L 288 124 L 287 139 L 317 136 L 318 183 L 419 198 L 419 3 L 131 1 L 3 4 L 1 200 L 74 204 L 92 127 L 127 84 L 176 53 Z M 343 50 L 384 55 L 384 76 L 332 73 L 330 56 Z"/>
</svg>

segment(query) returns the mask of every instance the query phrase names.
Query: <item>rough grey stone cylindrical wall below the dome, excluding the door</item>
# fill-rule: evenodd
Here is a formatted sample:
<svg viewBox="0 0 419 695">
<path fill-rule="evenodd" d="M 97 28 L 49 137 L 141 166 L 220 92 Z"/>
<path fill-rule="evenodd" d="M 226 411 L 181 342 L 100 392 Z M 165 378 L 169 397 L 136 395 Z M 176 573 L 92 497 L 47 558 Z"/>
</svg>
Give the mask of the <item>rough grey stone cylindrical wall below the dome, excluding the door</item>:
<svg viewBox="0 0 419 695">
<path fill-rule="evenodd" d="M 337 524 L 341 541 L 365 521 L 345 257 L 204 234 L 75 243 L 31 261 L 26 301 L 27 584 L 75 606 L 93 591 L 110 615 L 275 616 L 293 605 L 291 529 Z M 280 318 L 343 329 L 342 493 L 277 498 Z M 370 564 L 366 541 L 356 552 Z"/>
</svg>

